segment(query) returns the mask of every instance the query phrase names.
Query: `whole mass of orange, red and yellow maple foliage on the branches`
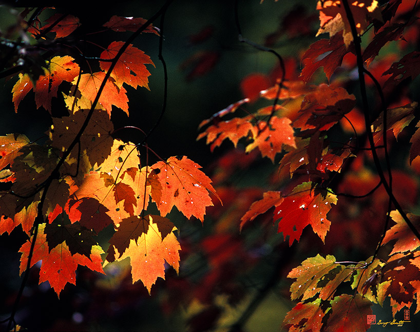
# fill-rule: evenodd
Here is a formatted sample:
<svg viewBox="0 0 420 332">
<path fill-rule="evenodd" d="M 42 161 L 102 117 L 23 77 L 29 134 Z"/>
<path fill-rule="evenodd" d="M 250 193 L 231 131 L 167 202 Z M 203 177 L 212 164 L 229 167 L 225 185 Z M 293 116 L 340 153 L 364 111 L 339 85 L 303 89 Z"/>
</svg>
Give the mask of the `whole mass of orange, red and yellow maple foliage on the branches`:
<svg viewBox="0 0 420 332">
<path fill-rule="evenodd" d="M 39 140 L 17 133 L 0 137 L 0 234 L 19 229 L 27 235 L 19 250 L 20 274 L 40 262 L 39 283 L 48 281 L 60 297 L 68 283 L 76 284 L 79 265 L 105 274 L 108 264 L 129 258 L 132 283 L 141 281 L 150 294 L 169 266 L 180 272 L 183 251 L 192 257 L 199 250 L 211 267 L 200 280 L 209 288 L 200 291 L 184 278 L 171 277 L 163 306 L 170 312 L 175 298 L 187 305 L 199 301 L 204 309 L 189 317 L 189 326 L 216 328 L 222 309 L 212 287 L 231 304 L 242 300 L 233 279 L 258 265 L 258 255 L 243 240 L 257 226 L 265 228 L 259 242 L 270 233 L 282 234 L 284 242 L 273 251 L 301 246 L 315 252 L 298 266 L 283 258 L 273 264 L 266 287 L 276 285 L 283 273 L 290 279 L 290 298 L 297 301 L 283 320 L 285 331 L 365 331 L 372 305 L 386 300 L 394 317 L 403 308 L 416 314 L 420 217 L 414 214 L 418 188 L 413 178 L 419 173 L 420 119 L 417 96 L 408 91 L 420 74 L 420 54 L 413 46 L 419 39 L 412 33 L 419 7 L 400 0 L 383 5 L 329 0 L 313 7 L 319 15 L 315 34 L 323 38 L 302 50 L 299 59 L 283 59 L 269 48 L 289 26 L 271 35 L 266 46 L 240 34 L 247 47 L 274 53 L 278 65 L 271 74 L 252 73 L 238 82 L 243 98 L 198 125 L 197 140 L 212 152 L 235 148 L 213 164 L 214 183 L 188 156 L 160 157 L 143 129 L 137 128 L 140 143 L 116 135 L 124 128 L 114 128 L 114 110 L 130 116 L 127 90 L 149 89 L 150 71 L 162 60 L 161 52 L 152 60 L 132 44 L 141 33 L 162 43 L 152 19 L 110 17 L 98 28 L 123 32 L 126 41 L 112 41 L 97 57 L 87 57 L 77 43 L 70 45 L 83 24 L 78 17 L 54 13 L 41 20 L 21 13 L 20 37 L 2 46 L 9 51 L 2 55 L 5 69 L 14 69 L 6 71 L 15 82 L 14 110 L 21 112 L 23 100 L 34 98 L 52 124 Z M 290 23 L 290 34 L 296 31 Z M 207 27 L 191 43 L 203 43 L 212 33 Z M 398 57 L 379 55 L 395 40 Z M 67 41 L 70 46 L 63 46 Z M 195 67 L 187 80 L 211 71 L 219 54 L 201 51 L 192 59 Z M 63 101 L 65 114 L 56 115 L 54 99 Z M 407 149 L 397 151 L 401 142 Z M 150 163 L 149 155 L 159 161 Z M 267 185 L 240 188 L 230 182 L 235 172 L 261 159 L 271 162 Z M 217 224 L 214 232 L 200 242 L 184 239 L 170 220 L 174 208 L 204 224 L 209 214 Z M 338 245 L 345 252 L 357 247 L 365 256 L 337 261 Z M 188 294 L 179 292 L 177 282 L 186 282 Z M 208 326 L 200 325 L 201 314 Z M 239 318 L 232 330 L 244 321 Z"/>
</svg>

